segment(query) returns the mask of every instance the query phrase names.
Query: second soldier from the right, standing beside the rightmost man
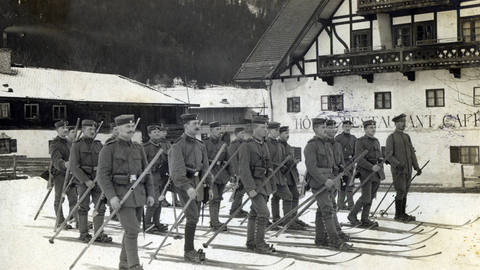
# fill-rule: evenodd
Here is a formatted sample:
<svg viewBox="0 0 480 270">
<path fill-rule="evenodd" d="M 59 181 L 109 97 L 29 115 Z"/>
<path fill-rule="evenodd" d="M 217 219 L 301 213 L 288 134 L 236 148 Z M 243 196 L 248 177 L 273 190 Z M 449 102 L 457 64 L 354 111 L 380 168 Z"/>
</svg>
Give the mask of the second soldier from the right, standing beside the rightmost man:
<svg viewBox="0 0 480 270">
<path fill-rule="evenodd" d="M 379 165 L 382 162 L 382 150 L 380 148 L 380 142 L 374 137 L 377 127 L 376 122 L 373 120 L 367 120 L 363 122 L 363 129 L 365 135 L 358 138 L 355 143 L 355 154 L 359 155 L 363 151 L 368 150 L 368 153 L 358 161 L 358 173 L 360 173 L 360 181 L 362 182 L 362 196 L 358 199 L 352 208 L 352 211 L 348 214 L 347 218 L 354 226 L 360 225 L 361 227 L 378 227 L 376 221 L 370 220 L 370 208 L 372 207 L 372 201 L 377 195 L 380 181 L 385 180 L 385 173 L 383 172 L 383 165 Z M 368 180 L 366 178 L 370 173 L 374 172 L 373 176 Z M 361 221 L 358 220 L 357 214 L 362 210 Z"/>
</svg>

